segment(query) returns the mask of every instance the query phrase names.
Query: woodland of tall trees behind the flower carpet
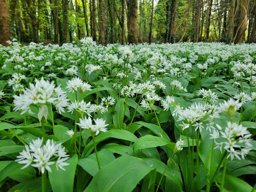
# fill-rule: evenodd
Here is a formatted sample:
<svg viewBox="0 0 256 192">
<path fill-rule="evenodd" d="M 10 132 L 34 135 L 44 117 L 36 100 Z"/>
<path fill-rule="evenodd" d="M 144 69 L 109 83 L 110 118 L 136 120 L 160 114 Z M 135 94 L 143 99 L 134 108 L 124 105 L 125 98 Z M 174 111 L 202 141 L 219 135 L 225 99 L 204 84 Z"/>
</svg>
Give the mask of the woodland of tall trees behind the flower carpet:
<svg viewBox="0 0 256 192">
<path fill-rule="evenodd" d="M 253 43 L 255 31 L 256 0 L 0 0 L 2 44 Z"/>
</svg>

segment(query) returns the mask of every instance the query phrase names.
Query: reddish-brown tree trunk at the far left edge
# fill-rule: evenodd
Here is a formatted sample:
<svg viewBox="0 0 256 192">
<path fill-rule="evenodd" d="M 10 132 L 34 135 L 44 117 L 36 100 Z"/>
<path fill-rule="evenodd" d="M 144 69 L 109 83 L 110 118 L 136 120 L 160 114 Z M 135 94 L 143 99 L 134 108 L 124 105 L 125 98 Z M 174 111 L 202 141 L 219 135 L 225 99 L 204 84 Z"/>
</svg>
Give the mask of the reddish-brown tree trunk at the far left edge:
<svg viewBox="0 0 256 192">
<path fill-rule="evenodd" d="M 6 41 L 11 40 L 10 21 L 5 0 L 0 0 L 0 44 L 7 46 Z"/>
</svg>

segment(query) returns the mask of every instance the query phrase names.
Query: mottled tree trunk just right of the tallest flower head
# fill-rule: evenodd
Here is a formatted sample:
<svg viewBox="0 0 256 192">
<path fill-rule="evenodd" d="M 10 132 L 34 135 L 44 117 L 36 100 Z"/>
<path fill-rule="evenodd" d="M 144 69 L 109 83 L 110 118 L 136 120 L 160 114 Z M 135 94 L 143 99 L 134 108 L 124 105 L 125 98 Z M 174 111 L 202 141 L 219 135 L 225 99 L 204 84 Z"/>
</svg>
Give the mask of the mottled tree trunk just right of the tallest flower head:
<svg viewBox="0 0 256 192">
<path fill-rule="evenodd" d="M 107 10 L 105 5 L 105 0 L 99 0 L 98 6 L 99 15 L 99 44 L 106 44 L 106 32 L 107 32 Z"/>
</svg>

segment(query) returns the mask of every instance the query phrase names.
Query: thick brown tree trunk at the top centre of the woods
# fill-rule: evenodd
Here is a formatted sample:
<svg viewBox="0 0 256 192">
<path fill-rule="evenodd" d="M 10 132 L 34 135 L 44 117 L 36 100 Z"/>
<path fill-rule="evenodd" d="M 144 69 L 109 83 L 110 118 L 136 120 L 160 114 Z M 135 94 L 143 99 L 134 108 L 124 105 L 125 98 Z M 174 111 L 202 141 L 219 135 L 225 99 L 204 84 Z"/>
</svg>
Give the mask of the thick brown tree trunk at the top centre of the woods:
<svg viewBox="0 0 256 192">
<path fill-rule="evenodd" d="M 126 4 L 127 4 L 128 42 L 137 44 L 138 2 L 137 0 L 127 0 Z"/>
</svg>

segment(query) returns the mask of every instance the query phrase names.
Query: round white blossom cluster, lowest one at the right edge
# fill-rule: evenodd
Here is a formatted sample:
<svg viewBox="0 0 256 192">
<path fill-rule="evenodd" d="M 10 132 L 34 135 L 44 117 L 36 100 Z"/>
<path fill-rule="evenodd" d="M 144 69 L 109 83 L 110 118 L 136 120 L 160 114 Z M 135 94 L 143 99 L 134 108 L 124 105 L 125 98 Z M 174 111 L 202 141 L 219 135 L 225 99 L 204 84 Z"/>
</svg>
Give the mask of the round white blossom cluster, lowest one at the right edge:
<svg viewBox="0 0 256 192">
<path fill-rule="evenodd" d="M 214 139 L 216 147 L 214 149 L 225 149 L 228 153 L 227 158 L 233 160 L 244 159 L 244 157 L 250 152 L 252 144 L 250 141 L 251 133 L 247 130 L 247 127 L 239 125 L 237 123 L 227 122 L 227 126 L 223 127 L 216 125 L 217 129 L 213 130 L 210 134 L 211 138 Z"/>
</svg>

